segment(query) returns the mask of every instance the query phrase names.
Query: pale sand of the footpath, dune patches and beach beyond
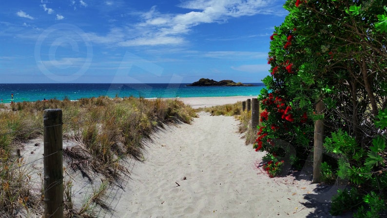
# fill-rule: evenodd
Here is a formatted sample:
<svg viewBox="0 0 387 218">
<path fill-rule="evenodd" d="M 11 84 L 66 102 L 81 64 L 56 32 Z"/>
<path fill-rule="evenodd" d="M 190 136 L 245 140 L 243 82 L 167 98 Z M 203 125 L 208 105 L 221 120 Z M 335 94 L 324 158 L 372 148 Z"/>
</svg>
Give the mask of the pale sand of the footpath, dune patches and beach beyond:
<svg viewBox="0 0 387 218">
<path fill-rule="evenodd" d="M 208 107 L 242 99 L 246 97 L 180 100 Z M 337 186 L 311 184 L 311 166 L 305 166 L 298 177 L 269 178 L 260 166 L 265 154 L 245 145 L 237 130 L 233 117 L 205 112 L 199 112 L 192 124 L 165 125 L 145 141 L 143 161 L 123 160 L 130 175 L 108 190 L 106 202 L 112 211 L 98 212 L 97 217 L 331 217 L 329 201 Z M 33 152 L 26 146 L 23 154 L 28 162 L 41 157 L 42 145 L 31 145 Z M 73 145 L 64 142 L 63 146 Z M 42 160 L 33 167 L 41 170 Z M 100 177 L 90 172 L 91 184 L 68 166 L 67 172 L 65 180 L 73 181 L 74 203 L 79 207 L 85 193 L 98 187 Z"/>
</svg>

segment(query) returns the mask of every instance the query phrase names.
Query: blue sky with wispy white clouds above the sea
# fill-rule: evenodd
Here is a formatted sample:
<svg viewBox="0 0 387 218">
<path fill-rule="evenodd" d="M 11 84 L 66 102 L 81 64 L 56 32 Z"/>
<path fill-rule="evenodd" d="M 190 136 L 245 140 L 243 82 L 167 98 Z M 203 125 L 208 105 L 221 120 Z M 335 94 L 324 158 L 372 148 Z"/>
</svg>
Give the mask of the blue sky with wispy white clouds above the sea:
<svg viewBox="0 0 387 218">
<path fill-rule="evenodd" d="M 261 82 L 285 0 L 12 0 L 0 83 Z"/>
</svg>

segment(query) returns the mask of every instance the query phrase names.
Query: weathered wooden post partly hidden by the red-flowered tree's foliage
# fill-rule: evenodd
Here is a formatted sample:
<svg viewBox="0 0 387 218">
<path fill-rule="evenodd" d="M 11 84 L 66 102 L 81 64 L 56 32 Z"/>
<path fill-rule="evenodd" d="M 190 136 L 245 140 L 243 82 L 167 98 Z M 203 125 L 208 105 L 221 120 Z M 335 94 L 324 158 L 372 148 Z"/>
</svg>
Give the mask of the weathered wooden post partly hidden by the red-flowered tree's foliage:
<svg viewBox="0 0 387 218">
<path fill-rule="evenodd" d="M 320 99 L 316 104 L 316 114 L 321 115 L 325 109 L 324 102 Z M 324 119 L 314 122 L 314 149 L 313 149 L 313 183 L 321 181 L 321 162 L 323 160 Z"/>
</svg>

